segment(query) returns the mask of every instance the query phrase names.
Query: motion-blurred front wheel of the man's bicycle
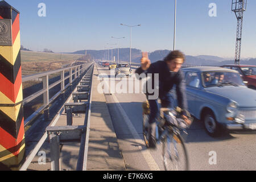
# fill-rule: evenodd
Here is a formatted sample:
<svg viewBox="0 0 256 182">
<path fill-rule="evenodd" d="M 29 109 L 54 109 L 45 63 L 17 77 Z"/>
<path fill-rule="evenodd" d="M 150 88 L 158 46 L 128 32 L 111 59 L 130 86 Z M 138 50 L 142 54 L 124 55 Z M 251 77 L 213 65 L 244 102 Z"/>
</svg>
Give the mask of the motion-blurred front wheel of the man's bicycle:
<svg viewBox="0 0 256 182">
<path fill-rule="evenodd" d="M 187 171 L 188 155 L 179 134 L 170 133 L 162 142 L 162 158 L 166 171 Z"/>
</svg>

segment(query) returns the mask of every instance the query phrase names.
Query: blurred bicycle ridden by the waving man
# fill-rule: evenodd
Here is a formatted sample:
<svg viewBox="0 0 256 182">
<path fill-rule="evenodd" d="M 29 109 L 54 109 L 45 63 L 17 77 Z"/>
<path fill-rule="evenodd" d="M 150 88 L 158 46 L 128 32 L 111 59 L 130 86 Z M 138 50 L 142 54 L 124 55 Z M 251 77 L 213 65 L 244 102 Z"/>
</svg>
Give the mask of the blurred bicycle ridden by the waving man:
<svg viewBox="0 0 256 182">
<path fill-rule="evenodd" d="M 148 119 L 150 114 L 148 102 L 143 102 L 143 138 L 148 148 Z M 162 159 L 166 171 L 188 171 L 188 155 L 184 140 L 180 131 L 185 134 L 187 123 L 180 117 L 181 109 L 175 110 L 168 108 L 160 109 L 160 118 L 156 123 L 156 144 L 162 144 Z M 187 112 L 188 119 L 193 121 L 191 115 Z M 158 132 L 158 133 L 157 133 Z M 159 136 L 159 137 L 158 137 Z M 173 150 L 172 150 L 173 149 Z"/>
</svg>

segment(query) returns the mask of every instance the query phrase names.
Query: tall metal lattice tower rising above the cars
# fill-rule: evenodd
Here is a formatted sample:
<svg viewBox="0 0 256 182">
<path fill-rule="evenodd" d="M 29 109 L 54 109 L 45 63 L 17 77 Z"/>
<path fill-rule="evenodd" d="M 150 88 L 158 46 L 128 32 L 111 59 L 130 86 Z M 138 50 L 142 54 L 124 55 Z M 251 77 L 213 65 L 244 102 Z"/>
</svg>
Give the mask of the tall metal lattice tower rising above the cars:
<svg viewBox="0 0 256 182">
<path fill-rule="evenodd" d="M 241 42 L 242 42 L 242 25 L 243 11 L 246 11 L 247 0 L 232 0 L 232 11 L 237 17 L 237 42 L 234 64 L 240 64 Z"/>
</svg>

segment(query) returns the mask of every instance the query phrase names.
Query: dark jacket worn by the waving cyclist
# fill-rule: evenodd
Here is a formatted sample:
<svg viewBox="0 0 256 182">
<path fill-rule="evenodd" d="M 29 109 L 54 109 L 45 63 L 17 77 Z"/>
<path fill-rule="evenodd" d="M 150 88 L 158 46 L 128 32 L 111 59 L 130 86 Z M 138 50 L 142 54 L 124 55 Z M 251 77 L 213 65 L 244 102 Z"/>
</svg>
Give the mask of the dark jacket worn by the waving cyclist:
<svg viewBox="0 0 256 182">
<path fill-rule="evenodd" d="M 184 81 L 184 74 L 181 70 L 179 72 L 170 72 L 168 65 L 164 61 L 157 61 L 152 63 L 150 67 L 143 71 L 140 67 L 135 73 L 141 75 L 141 73 L 152 73 L 154 80 L 154 73 L 159 74 L 159 98 L 164 98 L 170 92 L 174 85 L 176 85 L 177 104 L 181 109 L 187 110 L 187 95 L 186 95 L 186 84 Z M 154 82 L 153 87 L 154 88 Z M 150 93 L 146 92 L 146 95 Z"/>
</svg>

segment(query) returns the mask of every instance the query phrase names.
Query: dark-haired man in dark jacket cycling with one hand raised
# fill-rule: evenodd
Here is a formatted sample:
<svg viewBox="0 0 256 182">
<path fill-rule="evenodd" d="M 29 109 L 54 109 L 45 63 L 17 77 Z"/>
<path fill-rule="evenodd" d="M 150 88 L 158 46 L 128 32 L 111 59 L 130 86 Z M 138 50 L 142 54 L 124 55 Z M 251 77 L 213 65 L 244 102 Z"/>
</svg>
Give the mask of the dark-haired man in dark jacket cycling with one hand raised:
<svg viewBox="0 0 256 182">
<path fill-rule="evenodd" d="M 154 77 L 155 73 L 159 74 L 159 96 L 162 107 L 171 107 L 171 94 L 170 90 L 176 85 L 176 94 L 178 106 L 183 109 L 182 117 L 188 125 L 191 121 L 185 115 L 187 110 L 187 97 L 186 86 L 184 81 L 183 72 L 180 70 L 181 65 L 184 63 L 185 56 L 180 51 L 171 51 L 162 61 L 155 63 L 150 62 L 147 52 L 142 53 L 141 67 L 136 70 L 135 73 L 141 75 L 141 73 L 151 73 Z M 152 79 L 154 80 L 154 79 Z M 154 83 L 152 84 L 154 86 Z M 156 119 L 159 117 L 159 106 L 157 99 L 150 99 L 148 96 L 154 95 L 154 93 L 146 92 L 146 97 L 150 105 L 150 117 L 148 123 L 148 145 L 150 148 L 156 148 Z"/>
</svg>

